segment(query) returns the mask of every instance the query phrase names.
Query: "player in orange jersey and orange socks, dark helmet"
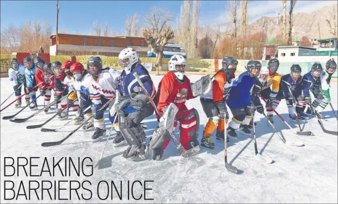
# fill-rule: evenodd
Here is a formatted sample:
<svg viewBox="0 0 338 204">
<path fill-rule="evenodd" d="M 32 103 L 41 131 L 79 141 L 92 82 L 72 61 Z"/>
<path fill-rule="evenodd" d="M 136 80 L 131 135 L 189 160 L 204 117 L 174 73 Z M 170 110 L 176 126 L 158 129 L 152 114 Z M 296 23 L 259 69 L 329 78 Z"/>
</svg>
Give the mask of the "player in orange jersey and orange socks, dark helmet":
<svg viewBox="0 0 338 204">
<path fill-rule="evenodd" d="M 201 146 L 203 147 L 210 149 L 215 148 L 215 144 L 211 141 L 211 137 L 217 125 L 216 139 L 224 141 L 224 120 L 227 123 L 229 114 L 227 112 L 225 101 L 223 100 L 223 89 L 226 82 L 230 84 L 232 79 L 235 78 L 237 64 L 237 60 L 233 57 L 223 58 L 222 71 L 216 74 L 215 80 L 212 83 L 212 89 L 209 93 L 201 95 L 200 97 L 203 111 L 209 118 L 201 139 Z"/>
</svg>

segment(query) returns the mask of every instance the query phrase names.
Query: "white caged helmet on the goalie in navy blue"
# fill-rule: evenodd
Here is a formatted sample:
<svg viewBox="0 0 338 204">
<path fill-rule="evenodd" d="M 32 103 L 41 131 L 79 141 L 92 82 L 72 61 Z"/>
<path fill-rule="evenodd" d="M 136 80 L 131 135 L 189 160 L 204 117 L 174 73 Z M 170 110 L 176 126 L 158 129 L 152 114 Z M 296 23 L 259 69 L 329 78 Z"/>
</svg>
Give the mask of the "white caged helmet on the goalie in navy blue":
<svg viewBox="0 0 338 204">
<path fill-rule="evenodd" d="M 118 54 L 118 64 L 124 69 L 126 74 L 131 72 L 131 68 L 137 62 L 139 57 L 135 49 L 127 47 Z"/>
</svg>

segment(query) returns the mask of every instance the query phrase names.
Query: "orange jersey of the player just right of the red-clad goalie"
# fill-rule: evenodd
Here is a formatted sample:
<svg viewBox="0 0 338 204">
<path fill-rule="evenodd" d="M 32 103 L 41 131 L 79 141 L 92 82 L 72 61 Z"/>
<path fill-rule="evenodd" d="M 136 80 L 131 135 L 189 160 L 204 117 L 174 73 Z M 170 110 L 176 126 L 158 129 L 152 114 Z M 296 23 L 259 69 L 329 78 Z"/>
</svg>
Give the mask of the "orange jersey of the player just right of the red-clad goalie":
<svg viewBox="0 0 338 204">
<path fill-rule="evenodd" d="M 235 76 L 233 75 L 232 78 Z M 219 72 L 212 83 L 211 90 L 204 95 L 201 95 L 202 98 L 213 99 L 214 102 L 223 100 L 223 88 L 225 86 L 226 77 L 224 72 Z"/>
</svg>

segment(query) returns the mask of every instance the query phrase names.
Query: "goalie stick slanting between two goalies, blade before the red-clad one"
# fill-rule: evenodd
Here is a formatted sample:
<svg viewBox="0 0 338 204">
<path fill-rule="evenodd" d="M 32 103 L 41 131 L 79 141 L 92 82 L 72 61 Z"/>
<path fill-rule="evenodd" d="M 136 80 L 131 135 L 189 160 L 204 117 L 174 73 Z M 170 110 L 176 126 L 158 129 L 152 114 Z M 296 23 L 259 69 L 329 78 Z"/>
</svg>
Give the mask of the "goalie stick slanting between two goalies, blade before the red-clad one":
<svg viewBox="0 0 338 204">
<path fill-rule="evenodd" d="M 135 79 L 138 81 L 138 83 L 140 84 L 142 90 L 144 91 L 144 93 L 146 94 L 149 102 L 152 104 L 156 114 L 158 114 L 158 116 L 162 117 L 162 114 L 159 112 L 159 110 L 157 109 L 153 99 L 150 97 L 147 89 L 144 87 L 143 82 L 141 81 L 141 79 L 139 78 L 139 76 L 137 75 L 137 73 L 135 72 L 134 74 Z M 168 129 L 167 129 L 168 130 Z M 196 146 L 191 148 L 190 150 L 186 150 L 183 148 L 183 146 L 181 145 L 181 143 L 176 139 L 176 137 L 172 134 L 172 132 L 170 130 L 168 130 L 169 135 L 171 136 L 172 141 L 174 142 L 176 149 L 178 150 L 179 154 L 182 155 L 183 157 L 189 157 L 192 156 L 193 154 L 196 154 L 200 151 L 200 147 Z"/>
</svg>

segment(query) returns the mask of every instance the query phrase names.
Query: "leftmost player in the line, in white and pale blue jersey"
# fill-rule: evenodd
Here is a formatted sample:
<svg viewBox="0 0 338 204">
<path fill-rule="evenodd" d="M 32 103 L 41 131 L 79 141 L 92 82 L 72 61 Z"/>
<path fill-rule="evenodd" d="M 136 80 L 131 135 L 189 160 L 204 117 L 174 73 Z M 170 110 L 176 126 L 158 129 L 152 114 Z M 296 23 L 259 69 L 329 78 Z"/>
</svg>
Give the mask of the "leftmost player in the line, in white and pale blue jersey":
<svg viewBox="0 0 338 204">
<path fill-rule="evenodd" d="M 26 91 L 26 78 L 25 78 L 25 67 L 22 64 L 19 64 L 18 59 L 11 58 L 9 60 L 10 68 L 8 70 L 9 81 L 13 85 L 15 91 L 15 96 L 18 98 L 14 104 L 15 108 L 21 107 L 21 84 L 24 87 L 23 91 L 25 94 L 26 104 L 29 104 L 29 92 Z"/>
</svg>

